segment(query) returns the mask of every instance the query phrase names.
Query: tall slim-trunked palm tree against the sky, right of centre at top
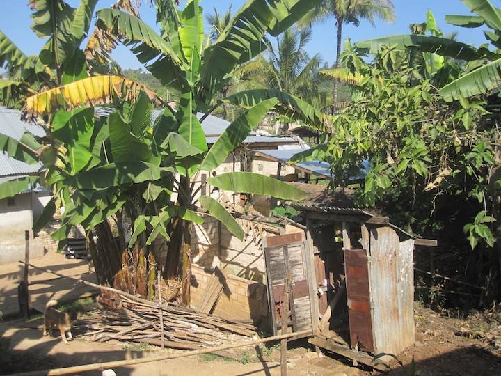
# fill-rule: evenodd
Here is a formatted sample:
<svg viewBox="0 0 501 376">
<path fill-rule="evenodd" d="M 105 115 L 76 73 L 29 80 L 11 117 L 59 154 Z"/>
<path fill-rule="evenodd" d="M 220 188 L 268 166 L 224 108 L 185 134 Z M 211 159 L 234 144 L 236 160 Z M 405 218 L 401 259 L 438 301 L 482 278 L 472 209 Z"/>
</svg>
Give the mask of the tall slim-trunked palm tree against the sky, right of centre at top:
<svg viewBox="0 0 501 376">
<path fill-rule="evenodd" d="M 301 24 L 326 21 L 334 17 L 337 26 L 337 51 L 335 68 L 340 68 L 342 27 L 344 24 L 358 26 L 365 19 L 373 26 L 376 18 L 392 22 L 395 19 L 394 6 L 391 0 L 321 0 L 302 20 Z M 333 100 L 337 102 L 337 81 L 334 82 Z"/>
</svg>

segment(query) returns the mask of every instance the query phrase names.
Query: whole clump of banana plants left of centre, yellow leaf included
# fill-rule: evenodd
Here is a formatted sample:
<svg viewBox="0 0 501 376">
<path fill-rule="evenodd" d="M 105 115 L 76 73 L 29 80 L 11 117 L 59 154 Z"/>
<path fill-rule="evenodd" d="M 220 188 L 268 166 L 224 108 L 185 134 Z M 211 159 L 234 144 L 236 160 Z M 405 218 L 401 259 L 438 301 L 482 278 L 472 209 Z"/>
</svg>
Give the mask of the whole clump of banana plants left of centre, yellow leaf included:
<svg viewBox="0 0 501 376">
<path fill-rule="evenodd" d="M 189 233 L 192 224 L 204 222 L 196 203 L 234 235 L 244 236 L 225 207 L 214 198 L 200 197 L 202 187 L 197 187 L 200 170 L 214 171 L 273 108 L 289 118 L 318 127 L 327 121 L 311 104 L 278 90 L 220 96 L 225 93 L 228 77 L 239 65 L 262 52 L 268 33 L 272 36 L 283 33 L 315 3 L 250 0 L 231 17 L 213 42 L 205 39 L 198 0 L 187 1 L 182 10 L 170 1 L 155 1 L 161 33 L 145 24 L 135 12 L 120 10 L 118 6 L 99 10 L 97 34 L 103 38 L 112 36 L 130 46 L 152 76 L 141 71 L 129 74 L 157 85 L 161 82 L 163 87 L 157 88 L 165 97 L 170 93 L 178 95 L 177 111 L 168 107 L 154 118 L 149 104 L 154 95 L 148 88 L 130 86 L 121 77 L 114 77 L 115 84 L 111 83 L 113 76 L 86 78 L 87 65 L 92 64 L 92 59 L 86 61 L 88 49 L 84 54 L 79 45 L 88 33 L 95 1 L 81 0 L 75 9 L 62 0 L 31 0 L 35 9 L 34 29 L 39 36 L 48 38 L 40 61 L 49 71 L 55 71 L 56 82 L 51 82 L 51 86 L 58 87 L 30 97 L 27 102 L 32 105 L 27 105 L 26 111 L 45 116 L 52 132 L 44 140 L 23 139 L 26 143 L 0 138 L 0 146 L 18 157 L 44 162 L 45 185 L 54 191 L 54 201 L 37 227 L 65 207 L 61 228 L 53 234 L 54 239 L 64 241 L 71 226 L 80 224 L 88 231 L 96 226 L 101 228 L 112 217 L 119 224 L 127 216 L 134 223 L 129 246 L 154 249 L 158 246 L 155 240 L 163 237 L 169 242 L 168 259 L 182 258 L 181 271 L 177 270 L 176 262 L 166 265 L 165 273 L 177 276 L 181 272 L 182 296 L 189 304 Z M 126 7 L 122 4 L 122 8 Z M 97 46 L 95 38 L 90 41 Z M 8 58 L 17 65 L 25 62 L 17 52 L 6 55 Z M 93 85 L 106 77 L 109 85 Z M 93 107 L 76 108 L 79 104 L 109 104 L 113 111 L 98 118 Z M 226 104 L 243 109 L 242 115 L 209 150 L 200 120 Z M 61 111 L 45 113 L 65 105 Z M 205 116 L 199 120 L 201 111 L 205 111 Z M 250 173 L 216 175 L 209 182 L 220 189 L 277 198 L 305 196 L 303 191 L 285 182 Z M 119 226 L 119 235 L 121 231 Z M 123 236 L 119 242 L 118 246 L 109 245 L 119 249 L 118 255 L 127 246 Z M 120 256 L 115 261 L 120 263 Z"/>
</svg>

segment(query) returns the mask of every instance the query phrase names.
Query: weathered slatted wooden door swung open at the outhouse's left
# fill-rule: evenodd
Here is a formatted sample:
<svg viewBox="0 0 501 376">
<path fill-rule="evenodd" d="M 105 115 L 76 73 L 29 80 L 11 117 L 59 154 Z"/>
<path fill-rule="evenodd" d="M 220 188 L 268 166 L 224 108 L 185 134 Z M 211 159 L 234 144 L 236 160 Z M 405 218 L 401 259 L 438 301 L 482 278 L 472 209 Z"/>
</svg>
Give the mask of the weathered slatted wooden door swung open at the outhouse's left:
<svg viewBox="0 0 501 376">
<path fill-rule="evenodd" d="M 305 241 L 302 233 L 271 236 L 265 239 L 264 260 L 273 334 L 278 334 L 282 320 L 280 303 L 283 299 L 285 276 L 292 277 L 289 306 L 293 331 L 312 328 L 308 273 L 305 262 Z"/>
</svg>

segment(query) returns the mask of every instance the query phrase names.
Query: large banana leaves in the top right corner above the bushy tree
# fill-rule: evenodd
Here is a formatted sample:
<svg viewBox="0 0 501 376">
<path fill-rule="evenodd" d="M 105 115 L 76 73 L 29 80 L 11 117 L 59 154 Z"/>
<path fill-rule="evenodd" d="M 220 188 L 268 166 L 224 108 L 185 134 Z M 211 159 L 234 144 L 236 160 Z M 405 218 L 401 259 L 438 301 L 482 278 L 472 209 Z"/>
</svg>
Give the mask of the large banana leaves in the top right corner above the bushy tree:
<svg viewBox="0 0 501 376">
<path fill-rule="evenodd" d="M 489 0 L 461 0 L 475 15 L 448 15 L 445 20 L 456 26 L 476 28 L 486 26 L 484 36 L 488 42 L 499 49 L 501 47 L 501 10 L 495 8 Z M 489 94 L 499 86 L 501 79 L 501 54 L 491 51 L 488 45 L 479 48 L 450 38 L 431 35 L 401 35 L 376 38 L 356 43 L 356 47 L 371 54 L 381 51 L 383 45 L 393 45 L 399 49 L 411 49 L 420 52 L 448 56 L 467 61 L 463 74 L 441 87 L 439 93 L 447 102 Z"/>
</svg>

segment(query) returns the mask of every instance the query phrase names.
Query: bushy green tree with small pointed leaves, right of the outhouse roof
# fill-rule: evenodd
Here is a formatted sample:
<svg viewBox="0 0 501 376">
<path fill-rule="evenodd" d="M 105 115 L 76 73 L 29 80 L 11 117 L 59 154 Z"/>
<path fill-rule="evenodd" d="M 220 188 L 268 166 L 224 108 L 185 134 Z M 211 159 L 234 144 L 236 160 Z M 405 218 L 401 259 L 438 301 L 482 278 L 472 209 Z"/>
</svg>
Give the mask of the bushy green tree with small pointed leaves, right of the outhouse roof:
<svg viewBox="0 0 501 376">
<path fill-rule="evenodd" d="M 436 26 L 434 30 L 438 33 Z M 372 206 L 397 200 L 406 212 L 404 203 L 411 198 L 411 207 L 420 211 L 413 209 L 399 220 L 419 233 L 438 226 L 429 217 L 451 196 L 462 195 L 479 211 L 494 203 L 489 179 L 497 163 L 497 130 L 482 100 L 446 104 L 436 90 L 438 76 L 454 61 L 444 60 L 436 70 L 422 69 L 434 56 L 426 52 L 416 61 L 410 51 L 383 46 L 367 63 L 364 49 L 348 47 L 342 61 L 353 77 L 359 77 L 351 84 L 353 103 L 334 116 L 336 132 L 327 144 L 296 159 L 326 160 L 335 171 L 335 184 L 342 186 L 363 161 L 369 162 L 365 185 L 357 191 L 358 203 Z M 472 247 L 479 240 L 493 246 L 493 228 L 487 223 L 491 217 L 479 215 L 465 232 Z"/>
</svg>

